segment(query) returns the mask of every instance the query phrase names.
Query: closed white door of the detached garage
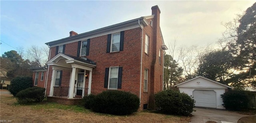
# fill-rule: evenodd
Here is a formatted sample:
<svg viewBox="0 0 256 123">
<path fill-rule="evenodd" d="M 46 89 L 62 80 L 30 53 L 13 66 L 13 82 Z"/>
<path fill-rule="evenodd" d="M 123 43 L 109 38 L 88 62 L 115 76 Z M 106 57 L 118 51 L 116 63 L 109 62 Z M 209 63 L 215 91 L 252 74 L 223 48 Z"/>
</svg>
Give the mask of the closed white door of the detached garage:
<svg viewBox="0 0 256 123">
<path fill-rule="evenodd" d="M 210 90 L 194 90 L 195 106 L 216 108 L 216 92 Z"/>
</svg>

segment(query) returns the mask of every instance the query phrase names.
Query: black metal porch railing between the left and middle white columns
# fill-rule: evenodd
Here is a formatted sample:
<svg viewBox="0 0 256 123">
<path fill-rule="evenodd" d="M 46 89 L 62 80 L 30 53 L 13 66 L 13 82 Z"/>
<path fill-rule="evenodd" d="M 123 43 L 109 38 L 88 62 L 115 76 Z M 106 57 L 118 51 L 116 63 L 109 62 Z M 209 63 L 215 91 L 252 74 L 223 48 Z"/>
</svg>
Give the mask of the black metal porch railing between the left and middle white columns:
<svg viewBox="0 0 256 123">
<path fill-rule="evenodd" d="M 69 87 L 56 86 L 53 87 L 53 96 L 68 97 Z"/>
</svg>

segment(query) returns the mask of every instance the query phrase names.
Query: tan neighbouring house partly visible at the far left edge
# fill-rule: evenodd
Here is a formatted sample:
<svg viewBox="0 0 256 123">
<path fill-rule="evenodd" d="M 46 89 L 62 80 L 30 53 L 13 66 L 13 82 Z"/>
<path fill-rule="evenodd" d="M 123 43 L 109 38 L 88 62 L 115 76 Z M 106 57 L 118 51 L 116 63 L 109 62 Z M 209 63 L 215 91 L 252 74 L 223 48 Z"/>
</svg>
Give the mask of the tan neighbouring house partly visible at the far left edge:
<svg viewBox="0 0 256 123">
<path fill-rule="evenodd" d="M 11 84 L 11 79 L 7 77 L 7 71 L 5 69 L 1 69 L 0 71 L 0 89 L 7 89 L 7 86 Z"/>
</svg>

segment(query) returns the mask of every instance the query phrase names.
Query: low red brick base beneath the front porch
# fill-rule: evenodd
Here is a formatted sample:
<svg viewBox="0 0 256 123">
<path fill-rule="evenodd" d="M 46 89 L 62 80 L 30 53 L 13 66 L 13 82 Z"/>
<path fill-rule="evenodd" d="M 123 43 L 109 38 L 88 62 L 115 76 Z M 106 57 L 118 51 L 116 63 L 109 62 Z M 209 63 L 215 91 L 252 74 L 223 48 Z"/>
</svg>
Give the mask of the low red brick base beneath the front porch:
<svg viewBox="0 0 256 123">
<path fill-rule="evenodd" d="M 68 99 L 67 97 L 47 97 L 47 101 L 64 105 L 81 105 L 82 103 L 82 99 Z"/>
</svg>

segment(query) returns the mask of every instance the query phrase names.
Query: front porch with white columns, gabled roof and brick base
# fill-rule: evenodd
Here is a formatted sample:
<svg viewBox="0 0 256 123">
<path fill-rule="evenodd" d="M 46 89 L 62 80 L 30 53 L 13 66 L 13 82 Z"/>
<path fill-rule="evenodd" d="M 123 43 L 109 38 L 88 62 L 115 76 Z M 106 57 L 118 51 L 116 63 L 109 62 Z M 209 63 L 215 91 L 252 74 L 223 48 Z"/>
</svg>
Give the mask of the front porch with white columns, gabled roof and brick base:
<svg viewBox="0 0 256 123">
<path fill-rule="evenodd" d="M 76 105 L 82 97 L 91 93 L 92 69 L 96 67 L 94 62 L 59 53 L 47 63 L 52 68 L 47 101 Z"/>
</svg>

